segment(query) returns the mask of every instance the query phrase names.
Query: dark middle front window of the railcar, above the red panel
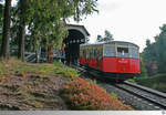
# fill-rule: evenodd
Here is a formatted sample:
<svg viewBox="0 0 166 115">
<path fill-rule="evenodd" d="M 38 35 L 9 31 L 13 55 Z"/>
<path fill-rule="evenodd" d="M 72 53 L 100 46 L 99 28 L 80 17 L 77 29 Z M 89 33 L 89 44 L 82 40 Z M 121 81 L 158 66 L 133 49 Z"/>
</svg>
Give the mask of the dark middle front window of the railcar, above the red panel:
<svg viewBox="0 0 166 115">
<path fill-rule="evenodd" d="M 117 48 L 118 58 L 128 58 L 128 48 Z"/>
</svg>

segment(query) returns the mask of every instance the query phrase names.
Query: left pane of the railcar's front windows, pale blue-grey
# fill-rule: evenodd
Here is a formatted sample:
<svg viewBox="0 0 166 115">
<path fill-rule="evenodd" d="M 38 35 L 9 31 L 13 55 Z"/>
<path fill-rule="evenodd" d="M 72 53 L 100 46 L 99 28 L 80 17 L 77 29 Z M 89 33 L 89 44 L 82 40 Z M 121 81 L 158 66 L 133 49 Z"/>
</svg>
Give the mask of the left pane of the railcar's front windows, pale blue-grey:
<svg viewBox="0 0 166 115">
<path fill-rule="evenodd" d="M 115 46 L 104 46 L 104 56 L 115 56 Z"/>
</svg>

